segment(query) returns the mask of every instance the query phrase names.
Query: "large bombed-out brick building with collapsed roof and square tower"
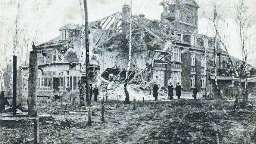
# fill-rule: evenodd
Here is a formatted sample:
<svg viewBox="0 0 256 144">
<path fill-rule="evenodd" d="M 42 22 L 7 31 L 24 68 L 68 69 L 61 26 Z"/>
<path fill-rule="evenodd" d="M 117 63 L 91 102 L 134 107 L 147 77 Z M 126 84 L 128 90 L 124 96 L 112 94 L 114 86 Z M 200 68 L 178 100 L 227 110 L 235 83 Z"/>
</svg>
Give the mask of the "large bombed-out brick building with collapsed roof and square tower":
<svg viewBox="0 0 256 144">
<path fill-rule="evenodd" d="M 90 72 L 101 75 L 105 82 L 124 79 L 128 64 L 128 35 L 132 19 L 132 59 L 129 83 L 150 90 L 153 82 L 167 87 L 179 82 L 183 93 L 191 94 L 197 87 L 201 94 L 210 91 L 210 72 L 214 66 L 225 69 L 227 53 L 217 42 L 218 59 L 214 63 L 215 40 L 197 33 L 197 10 L 194 0 L 163 0 L 161 21 L 145 15 L 129 16 L 130 6 L 124 5 L 99 21 L 90 22 Z M 37 46 L 38 93 L 76 92 L 81 64 L 82 29 L 68 24 L 60 35 Z M 23 91 L 27 90 L 28 68 L 23 68 Z M 118 78 L 118 79 L 117 79 Z"/>
</svg>

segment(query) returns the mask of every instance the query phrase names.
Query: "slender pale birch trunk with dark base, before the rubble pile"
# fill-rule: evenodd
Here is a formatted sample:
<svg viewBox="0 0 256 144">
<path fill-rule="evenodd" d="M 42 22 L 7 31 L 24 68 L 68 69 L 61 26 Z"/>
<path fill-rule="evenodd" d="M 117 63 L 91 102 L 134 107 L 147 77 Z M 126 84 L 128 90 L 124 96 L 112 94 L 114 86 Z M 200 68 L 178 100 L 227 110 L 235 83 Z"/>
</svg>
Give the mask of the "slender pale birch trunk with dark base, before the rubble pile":
<svg viewBox="0 0 256 144">
<path fill-rule="evenodd" d="M 124 93 L 125 93 L 125 104 L 130 104 L 129 92 L 127 91 L 127 83 L 129 79 L 129 71 L 131 69 L 131 52 L 132 52 L 132 1 L 131 1 L 131 12 L 130 12 L 130 25 L 129 25 L 129 59 L 126 71 L 126 78 L 124 83 Z"/>
</svg>

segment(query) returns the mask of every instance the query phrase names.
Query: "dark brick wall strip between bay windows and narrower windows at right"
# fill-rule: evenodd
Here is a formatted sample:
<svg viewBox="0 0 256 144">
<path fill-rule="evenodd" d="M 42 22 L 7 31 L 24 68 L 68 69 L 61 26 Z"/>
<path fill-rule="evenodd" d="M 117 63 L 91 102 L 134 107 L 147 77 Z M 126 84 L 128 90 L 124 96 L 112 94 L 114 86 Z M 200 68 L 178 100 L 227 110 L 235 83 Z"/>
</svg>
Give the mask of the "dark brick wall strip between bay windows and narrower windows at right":
<svg viewBox="0 0 256 144">
<path fill-rule="evenodd" d="M 182 87 L 183 91 L 190 91 L 190 69 L 191 69 L 191 60 L 190 54 L 185 52 L 182 54 Z"/>
</svg>

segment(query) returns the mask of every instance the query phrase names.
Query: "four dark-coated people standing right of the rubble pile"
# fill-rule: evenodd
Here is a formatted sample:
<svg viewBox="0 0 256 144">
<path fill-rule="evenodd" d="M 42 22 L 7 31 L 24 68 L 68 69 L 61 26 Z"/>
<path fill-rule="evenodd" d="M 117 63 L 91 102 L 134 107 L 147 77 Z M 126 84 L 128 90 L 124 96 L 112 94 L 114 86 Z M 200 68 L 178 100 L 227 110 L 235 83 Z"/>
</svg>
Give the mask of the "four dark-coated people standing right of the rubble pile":
<svg viewBox="0 0 256 144">
<path fill-rule="evenodd" d="M 154 85 L 153 85 L 153 97 L 154 97 L 154 100 L 158 100 L 157 99 L 157 97 L 158 97 L 158 90 L 159 90 L 158 85 L 154 82 Z M 169 97 L 170 100 L 172 100 L 173 96 L 174 96 L 173 90 L 174 90 L 174 86 L 170 82 L 169 85 L 168 85 L 168 97 Z M 176 91 L 176 96 L 178 97 L 178 99 L 180 99 L 180 97 L 181 97 L 181 85 L 179 85 L 179 82 L 176 85 L 175 91 Z M 197 87 L 195 87 L 193 89 L 194 100 L 196 100 L 197 92 L 198 92 Z"/>
</svg>

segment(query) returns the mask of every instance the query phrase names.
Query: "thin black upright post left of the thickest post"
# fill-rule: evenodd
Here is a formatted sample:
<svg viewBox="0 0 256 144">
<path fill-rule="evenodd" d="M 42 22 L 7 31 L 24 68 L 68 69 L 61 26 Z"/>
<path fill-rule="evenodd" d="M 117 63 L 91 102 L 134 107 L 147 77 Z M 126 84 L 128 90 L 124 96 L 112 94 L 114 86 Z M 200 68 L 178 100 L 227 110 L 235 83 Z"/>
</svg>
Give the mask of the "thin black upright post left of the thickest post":
<svg viewBox="0 0 256 144">
<path fill-rule="evenodd" d="M 12 115 L 16 115 L 16 109 L 17 109 L 17 56 L 13 56 Z"/>
</svg>

